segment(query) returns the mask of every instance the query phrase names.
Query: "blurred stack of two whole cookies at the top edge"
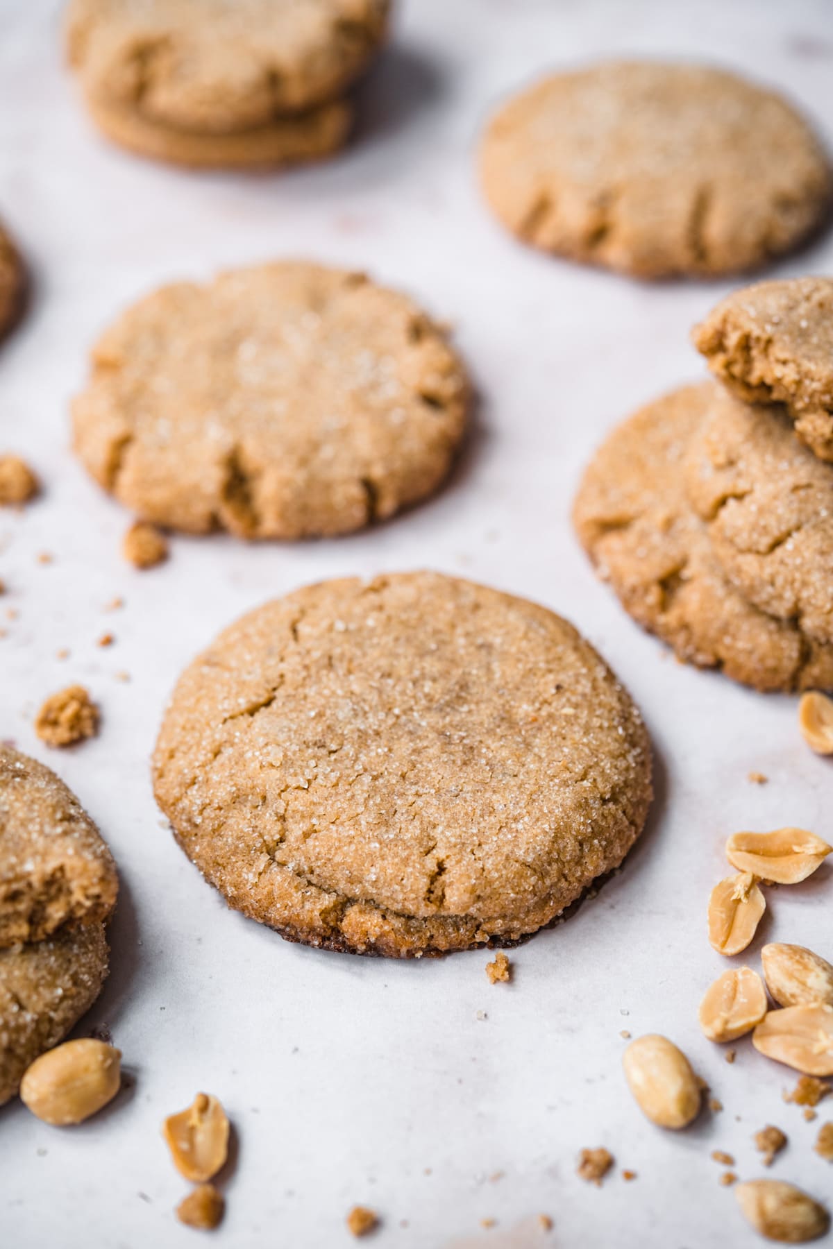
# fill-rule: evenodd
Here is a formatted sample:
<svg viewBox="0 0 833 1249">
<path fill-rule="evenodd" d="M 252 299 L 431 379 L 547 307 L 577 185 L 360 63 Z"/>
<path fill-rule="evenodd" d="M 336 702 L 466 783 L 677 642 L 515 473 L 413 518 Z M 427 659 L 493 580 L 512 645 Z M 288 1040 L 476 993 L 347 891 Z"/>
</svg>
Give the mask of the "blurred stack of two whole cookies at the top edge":
<svg viewBox="0 0 833 1249">
<path fill-rule="evenodd" d="M 105 135 L 195 167 L 316 160 L 342 146 L 347 90 L 388 0 L 72 0 L 70 64 Z"/>
</svg>

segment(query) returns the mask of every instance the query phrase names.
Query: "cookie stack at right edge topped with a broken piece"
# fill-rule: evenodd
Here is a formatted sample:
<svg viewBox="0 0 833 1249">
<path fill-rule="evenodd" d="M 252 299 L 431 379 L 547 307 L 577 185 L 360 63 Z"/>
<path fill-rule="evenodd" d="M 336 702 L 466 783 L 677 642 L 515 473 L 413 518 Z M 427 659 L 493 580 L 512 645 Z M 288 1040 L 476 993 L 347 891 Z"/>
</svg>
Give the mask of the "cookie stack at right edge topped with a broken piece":
<svg viewBox="0 0 833 1249">
<path fill-rule="evenodd" d="M 833 280 L 738 291 L 694 341 L 719 382 L 612 432 L 578 536 L 681 659 L 756 689 L 833 688 Z"/>
</svg>

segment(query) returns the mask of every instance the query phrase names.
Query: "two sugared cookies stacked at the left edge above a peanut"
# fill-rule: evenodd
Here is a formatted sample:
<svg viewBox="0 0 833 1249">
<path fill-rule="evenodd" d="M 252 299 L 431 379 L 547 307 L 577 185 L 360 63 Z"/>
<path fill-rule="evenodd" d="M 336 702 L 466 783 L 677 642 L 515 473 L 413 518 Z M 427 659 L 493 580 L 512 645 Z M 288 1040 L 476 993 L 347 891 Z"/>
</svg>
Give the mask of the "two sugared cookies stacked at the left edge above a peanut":
<svg viewBox="0 0 833 1249">
<path fill-rule="evenodd" d="M 74 794 L 0 746 L 0 1105 L 97 998 L 117 887 Z"/>
</svg>

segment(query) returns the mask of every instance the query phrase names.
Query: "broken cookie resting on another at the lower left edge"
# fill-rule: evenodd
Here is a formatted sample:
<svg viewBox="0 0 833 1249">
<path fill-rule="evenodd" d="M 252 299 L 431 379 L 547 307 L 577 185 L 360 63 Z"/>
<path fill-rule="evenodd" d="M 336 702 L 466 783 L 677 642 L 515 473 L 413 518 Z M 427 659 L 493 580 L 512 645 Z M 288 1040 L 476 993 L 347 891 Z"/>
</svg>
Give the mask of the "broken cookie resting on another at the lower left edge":
<svg viewBox="0 0 833 1249">
<path fill-rule="evenodd" d="M 116 866 L 77 798 L 54 772 L 0 746 L 0 947 L 105 919 Z"/>
</svg>

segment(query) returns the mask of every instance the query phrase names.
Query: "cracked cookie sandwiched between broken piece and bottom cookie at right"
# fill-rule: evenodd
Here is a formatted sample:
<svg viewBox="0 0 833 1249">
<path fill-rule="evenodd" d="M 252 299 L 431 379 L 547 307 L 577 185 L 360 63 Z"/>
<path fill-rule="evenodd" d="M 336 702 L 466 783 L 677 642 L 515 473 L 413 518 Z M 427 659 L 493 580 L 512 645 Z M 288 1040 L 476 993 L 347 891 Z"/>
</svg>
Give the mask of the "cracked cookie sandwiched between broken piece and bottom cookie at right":
<svg viewBox="0 0 833 1249">
<path fill-rule="evenodd" d="M 833 468 L 793 437 L 783 410 L 717 387 L 692 441 L 686 485 L 744 598 L 833 643 Z"/>
</svg>

